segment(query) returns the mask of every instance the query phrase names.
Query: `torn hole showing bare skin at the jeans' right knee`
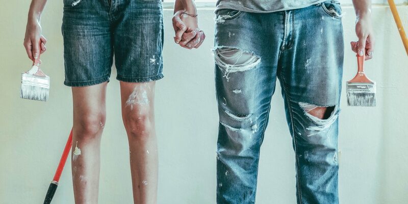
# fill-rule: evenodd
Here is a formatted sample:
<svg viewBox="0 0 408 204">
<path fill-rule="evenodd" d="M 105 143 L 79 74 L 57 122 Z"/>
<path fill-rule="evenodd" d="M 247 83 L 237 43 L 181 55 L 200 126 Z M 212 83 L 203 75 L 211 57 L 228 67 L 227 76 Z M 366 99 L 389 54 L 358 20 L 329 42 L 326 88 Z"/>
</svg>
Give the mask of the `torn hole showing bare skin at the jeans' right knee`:
<svg viewBox="0 0 408 204">
<path fill-rule="evenodd" d="M 308 116 L 316 126 L 309 126 L 308 131 L 323 131 L 333 124 L 339 116 L 338 106 L 317 106 L 299 102 L 304 115 Z"/>
</svg>

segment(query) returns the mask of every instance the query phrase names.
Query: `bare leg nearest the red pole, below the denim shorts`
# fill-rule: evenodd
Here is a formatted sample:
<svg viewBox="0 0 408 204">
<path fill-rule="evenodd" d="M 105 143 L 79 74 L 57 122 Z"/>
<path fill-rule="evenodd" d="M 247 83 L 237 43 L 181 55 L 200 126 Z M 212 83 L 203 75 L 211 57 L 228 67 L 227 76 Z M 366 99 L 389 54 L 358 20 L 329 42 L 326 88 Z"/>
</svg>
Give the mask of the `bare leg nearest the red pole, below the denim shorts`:
<svg viewBox="0 0 408 204">
<path fill-rule="evenodd" d="M 107 83 L 72 87 L 72 182 L 76 204 L 98 203 L 100 138 L 106 120 Z"/>
</svg>

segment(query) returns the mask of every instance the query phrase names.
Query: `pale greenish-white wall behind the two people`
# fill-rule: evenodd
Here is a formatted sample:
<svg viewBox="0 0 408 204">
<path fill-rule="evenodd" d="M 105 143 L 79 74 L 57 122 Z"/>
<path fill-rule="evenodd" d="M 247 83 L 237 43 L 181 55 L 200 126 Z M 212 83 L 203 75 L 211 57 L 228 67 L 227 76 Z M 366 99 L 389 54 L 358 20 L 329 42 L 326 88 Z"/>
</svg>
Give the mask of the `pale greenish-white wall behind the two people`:
<svg viewBox="0 0 408 204">
<path fill-rule="evenodd" d="M 382 1 L 381 1 L 382 2 Z M 404 1 L 399 1 L 404 2 Z M 406 1 L 405 1 L 406 2 Z M 4 5 L 4 4 L 3 4 Z M 70 88 L 64 80 L 62 3 L 48 1 L 42 17 L 47 52 L 41 57 L 52 88 L 46 103 L 19 98 L 20 73 L 30 67 L 22 46 L 29 1 L 0 8 L 0 203 L 42 203 L 72 125 Z M 343 8 L 344 80 L 355 73 L 348 42 L 356 40 L 352 7 Z M 408 6 L 398 7 L 408 30 Z M 215 203 L 217 109 L 214 87 L 213 10 L 199 10 L 205 43 L 194 50 L 172 40 L 172 11 L 165 10 L 165 78 L 157 83 L 159 204 Z M 392 203 L 408 200 L 408 58 L 388 7 L 372 9 L 376 49 L 366 63 L 377 82 L 377 107 L 351 108 L 341 101 L 339 148 L 342 203 Z M 102 140 L 99 200 L 132 203 L 127 139 L 121 122 L 119 84 L 113 71 Z M 272 99 L 262 147 L 257 203 L 295 203 L 294 154 L 279 87 Z M 70 162 L 54 203 L 73 203 Z"/>
</svg>

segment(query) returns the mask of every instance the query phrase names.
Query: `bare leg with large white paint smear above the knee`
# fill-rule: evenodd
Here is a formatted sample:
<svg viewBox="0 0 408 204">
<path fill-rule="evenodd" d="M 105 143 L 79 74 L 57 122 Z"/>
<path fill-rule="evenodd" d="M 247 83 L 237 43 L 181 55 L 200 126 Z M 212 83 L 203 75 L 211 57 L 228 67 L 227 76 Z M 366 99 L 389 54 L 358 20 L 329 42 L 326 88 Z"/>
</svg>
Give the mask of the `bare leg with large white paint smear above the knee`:
<svg viewBox="0 0 408 204">
<path fill-rule="evenodd" d="M 157 203 L 158 156 L 155 132 L 155 82 L 120 82 L 122 119 L 129 140 L 135 204 Z"/>
</svg>

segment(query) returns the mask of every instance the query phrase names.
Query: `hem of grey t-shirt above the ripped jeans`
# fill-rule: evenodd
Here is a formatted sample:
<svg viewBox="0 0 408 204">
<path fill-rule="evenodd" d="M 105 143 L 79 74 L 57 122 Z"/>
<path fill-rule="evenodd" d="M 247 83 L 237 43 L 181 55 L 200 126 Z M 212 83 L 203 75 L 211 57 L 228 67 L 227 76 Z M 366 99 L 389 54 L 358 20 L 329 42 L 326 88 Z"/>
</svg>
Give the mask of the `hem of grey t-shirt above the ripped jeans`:
<svg viewBox="0 0 408 204">
<path fill-rule="evenodd" d="M 218 0 L 215 12 L 220 9 L 234 9 L 250 13 L 271 13 L 305 8 L 327 0 Z"/>
</svg>

